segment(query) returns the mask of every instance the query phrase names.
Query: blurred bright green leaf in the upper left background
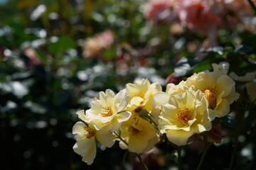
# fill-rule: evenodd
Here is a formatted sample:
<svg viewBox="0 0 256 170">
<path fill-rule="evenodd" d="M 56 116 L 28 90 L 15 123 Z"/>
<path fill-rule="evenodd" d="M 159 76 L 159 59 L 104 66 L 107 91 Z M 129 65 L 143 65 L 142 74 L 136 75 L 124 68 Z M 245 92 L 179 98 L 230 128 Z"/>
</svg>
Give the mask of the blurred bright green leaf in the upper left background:
<svg viewBox="0 0 256 170">
<path fill-rule="evenodd" d="M 63 35 L 57 42 L 53 42 L 48 46 L 48 50 L 53 55 L 62 55 L 67 50 L 76 47 L 75 41 L 68 36 Z"/>
</svg>

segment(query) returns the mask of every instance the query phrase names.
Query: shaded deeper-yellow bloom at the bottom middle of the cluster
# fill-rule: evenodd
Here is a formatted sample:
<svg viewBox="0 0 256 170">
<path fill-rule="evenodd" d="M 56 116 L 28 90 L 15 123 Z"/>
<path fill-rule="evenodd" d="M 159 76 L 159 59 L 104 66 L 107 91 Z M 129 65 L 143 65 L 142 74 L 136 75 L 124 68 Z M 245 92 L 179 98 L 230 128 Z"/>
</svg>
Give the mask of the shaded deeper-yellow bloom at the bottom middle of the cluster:
<svg viewBox="0 0 256 170">
<path fill-rule="evenodd" d="M 136 113 L 121 127 L 121 137 L 126 142 L 119 142 L 122 149 L 130 152 L 147 152 L 159 142 L 159 136 L 154 125 L 139 117 Z"/>
</svg>

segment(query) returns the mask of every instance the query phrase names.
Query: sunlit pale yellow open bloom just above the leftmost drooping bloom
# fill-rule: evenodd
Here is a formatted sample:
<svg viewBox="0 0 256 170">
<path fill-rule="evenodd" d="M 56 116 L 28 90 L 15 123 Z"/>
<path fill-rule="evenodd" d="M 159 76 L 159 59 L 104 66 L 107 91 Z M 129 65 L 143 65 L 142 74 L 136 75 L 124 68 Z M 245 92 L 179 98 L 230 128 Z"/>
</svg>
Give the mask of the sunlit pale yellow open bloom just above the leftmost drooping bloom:
<svg viewBox="0 0 256 170">
<path fill-rule="evenodd" d="M 100 92 L 100 99 L 92 101 L 92 108 L 81 115 L 81 119 L 92 125 L 96 130 L 100 130 L 105 125 L 110 124 L 111 132 L 117 131 L 122 122 L 129 119 L 131 113 L 124 111 L 129 103 L 127 91 L 119 91 L 117 95 L 107 89 Z"/>
</svg>

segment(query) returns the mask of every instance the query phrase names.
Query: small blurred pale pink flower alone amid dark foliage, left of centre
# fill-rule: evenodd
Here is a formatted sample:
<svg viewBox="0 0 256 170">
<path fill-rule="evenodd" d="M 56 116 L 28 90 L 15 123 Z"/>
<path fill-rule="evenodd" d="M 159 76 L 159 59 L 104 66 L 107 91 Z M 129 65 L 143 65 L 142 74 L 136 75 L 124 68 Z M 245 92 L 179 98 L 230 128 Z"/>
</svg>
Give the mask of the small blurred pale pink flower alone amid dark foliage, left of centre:
<svg viewBox="0 0 256 170">
<path fill-rule="evenodd" d="M 103 49 L 110 48 L 114 42 L 114 34 L 111 30 L 105 30 L 95 35 L 93 38 L 87 38 L 83 47 L 82 55 L 84 57 L 94 57 L 100 55 Z"/>
</svg>

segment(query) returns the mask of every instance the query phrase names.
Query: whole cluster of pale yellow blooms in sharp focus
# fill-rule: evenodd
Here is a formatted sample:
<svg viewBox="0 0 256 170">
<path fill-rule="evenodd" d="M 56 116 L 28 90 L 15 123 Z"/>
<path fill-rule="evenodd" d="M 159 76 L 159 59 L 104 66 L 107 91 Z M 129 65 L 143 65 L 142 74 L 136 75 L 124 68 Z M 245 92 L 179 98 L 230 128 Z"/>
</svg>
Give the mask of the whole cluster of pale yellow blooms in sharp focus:
<svg viewBox="0 0 256 170">
<path fill-rule="evenodd" d="M 152 149 L 166 134 L 177 146 L 187 145 L 194 134 L 212 129 L 215 117 L 230 113 L 239 94 L 228 77 L 228 63 L 213 64 L 213 72 L 193 74 L 178 85 L 138 79 L 114 94 L 107 89 L 87 111 L 78 111 L 80 122 L 73 127 L 73 149 L 82 161 L 92 164 L 95 140 L 105 147 L 119 141 L 119 147 L 140 154 Z"/>
</svg>

